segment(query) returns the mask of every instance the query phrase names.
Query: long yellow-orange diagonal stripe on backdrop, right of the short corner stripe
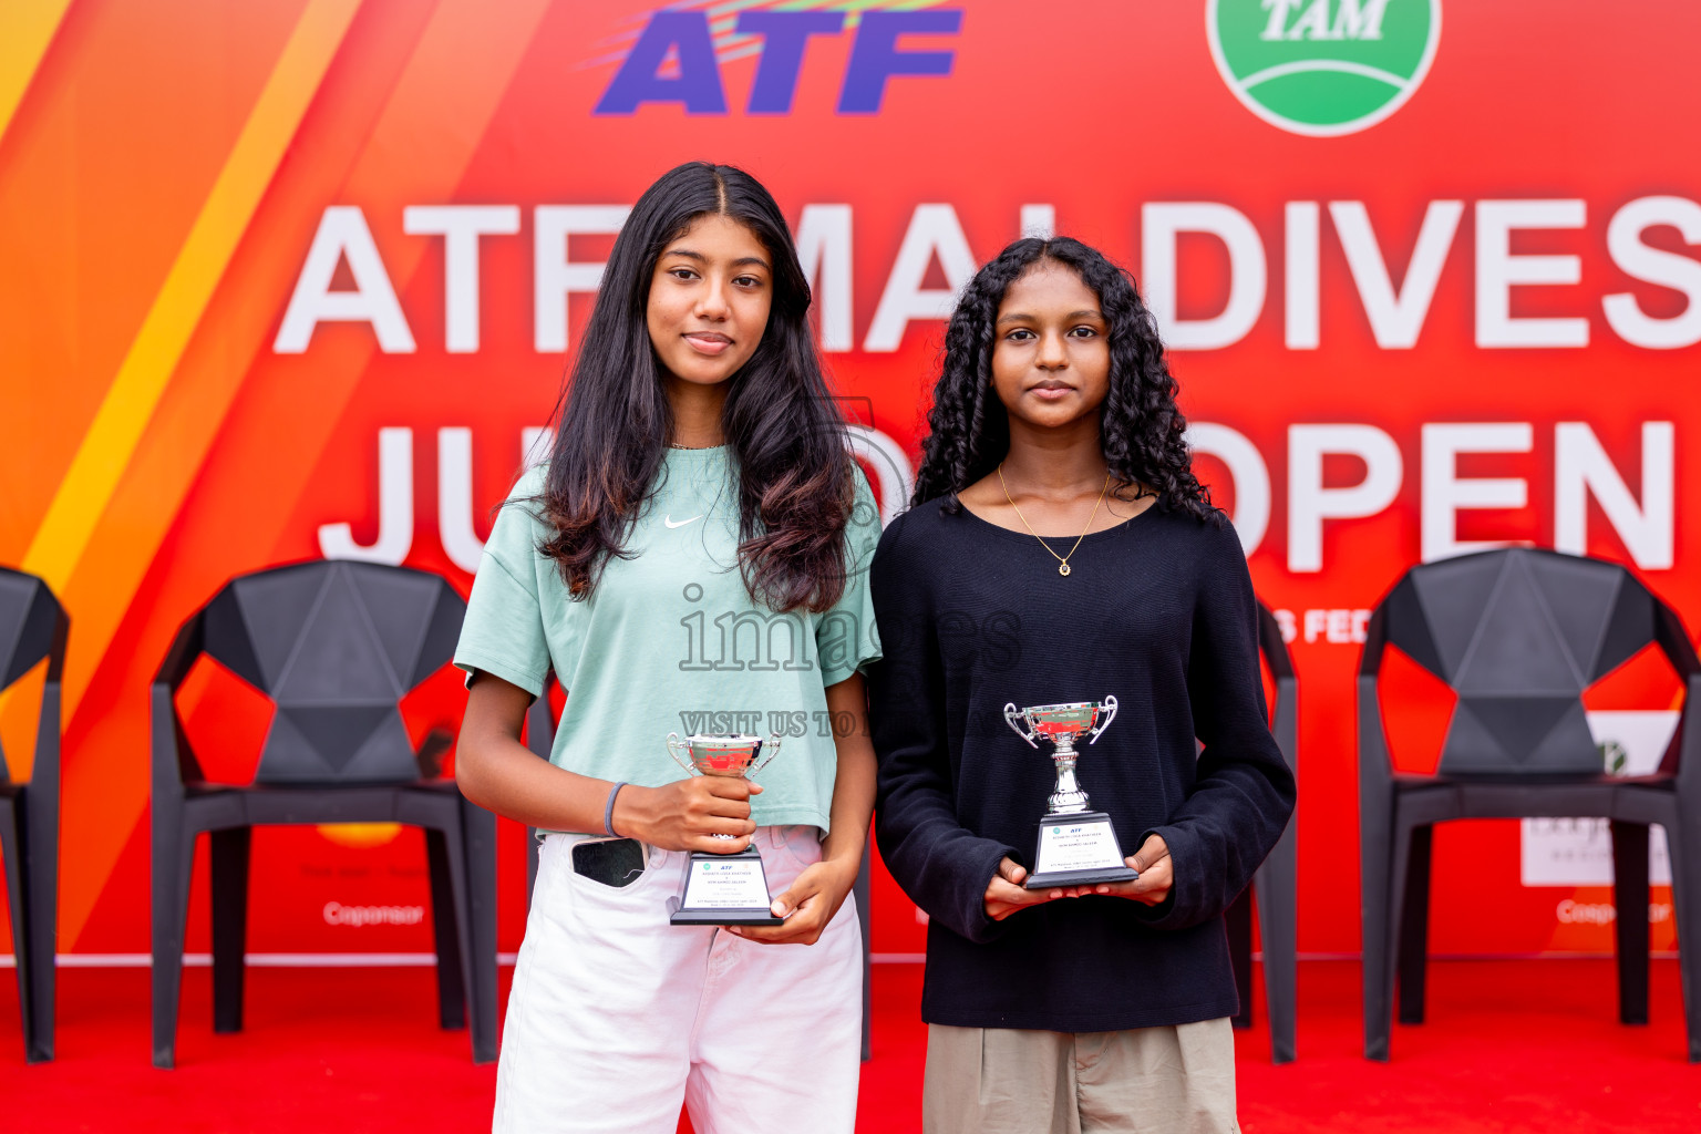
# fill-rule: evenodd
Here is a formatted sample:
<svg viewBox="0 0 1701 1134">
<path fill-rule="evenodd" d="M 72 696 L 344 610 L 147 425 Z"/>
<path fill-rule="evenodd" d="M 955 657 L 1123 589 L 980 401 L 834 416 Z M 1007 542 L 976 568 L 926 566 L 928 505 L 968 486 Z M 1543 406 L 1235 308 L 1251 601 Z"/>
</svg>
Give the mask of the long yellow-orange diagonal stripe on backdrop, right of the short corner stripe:
<svg viewBox="0 0 1701 1134">
<path fill-rule="evenodd" d="M 311 0 L 60 483 L 24 570 L 63 592 L 361 0 Z"/>
</svg>

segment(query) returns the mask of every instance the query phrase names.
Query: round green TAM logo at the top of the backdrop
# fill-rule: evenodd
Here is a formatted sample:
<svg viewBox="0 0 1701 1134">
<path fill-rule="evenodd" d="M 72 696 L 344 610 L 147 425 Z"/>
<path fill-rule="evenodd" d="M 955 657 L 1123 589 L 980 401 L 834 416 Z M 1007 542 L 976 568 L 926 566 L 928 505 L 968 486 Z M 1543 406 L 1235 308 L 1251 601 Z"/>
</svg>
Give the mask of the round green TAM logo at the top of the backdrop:
<svg viewBox="0 0 1701 1134">
<path fill-rule="evenodd" d="M 1412 97 L 1441 0 L 1208 0 L 1211 58 L 1240 102 L 1294 134 L 1351 134 Z"/>
</svg>

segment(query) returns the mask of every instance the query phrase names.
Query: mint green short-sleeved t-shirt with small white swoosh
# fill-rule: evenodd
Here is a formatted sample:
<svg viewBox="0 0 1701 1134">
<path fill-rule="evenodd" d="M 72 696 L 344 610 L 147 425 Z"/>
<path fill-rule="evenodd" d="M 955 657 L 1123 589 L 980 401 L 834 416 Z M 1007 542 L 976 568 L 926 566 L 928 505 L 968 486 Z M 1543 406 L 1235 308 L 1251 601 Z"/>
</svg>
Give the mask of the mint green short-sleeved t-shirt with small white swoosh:
<svg viewBox="0 0 1701 1134">
<path fill-rule="evenodd" d="M 553 534 L 529 503 L 544 469 L 514 486 L 485 544 L 454 663 L 543 695 L 553 668 L 566 709 L 549 760 L 606 780 L 660 787 L 686 775 L 667 734 L 781 736 L 754 779 L 760 826 L 828 826 L 837 748 L 825 689 L 879 658 L 868 566 L 879 512 L 857 476 L 845 529 L 845 590 L 830 610 L 774 614 L 738 573 L 738 493 L 728 449 L 668 449 L 660 488 L 575 600 L 538 547 Z M 769 751 L 764 748 L 762 758 Z"/>
</svg>

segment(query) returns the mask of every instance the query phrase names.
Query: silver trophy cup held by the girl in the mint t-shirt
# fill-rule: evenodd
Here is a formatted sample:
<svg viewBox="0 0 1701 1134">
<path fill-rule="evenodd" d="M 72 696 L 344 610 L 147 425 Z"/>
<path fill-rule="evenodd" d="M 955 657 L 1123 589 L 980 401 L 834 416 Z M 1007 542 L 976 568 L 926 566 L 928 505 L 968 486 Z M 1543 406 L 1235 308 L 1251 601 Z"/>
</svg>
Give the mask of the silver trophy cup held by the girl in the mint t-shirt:
<svg viewBox="0 0 1701 1134">
<path fill-rule="evenodd" d="M 767 748 L 759 763 L 757 755 Z M 680 755 L 684 751 L 684 757 Z M 769 736 L 704 736 L 680 738 L 667 734 L 667 755 L 674 763 L 696 775 L 755 775 L 779 755 L 779 734 Z M 733 835 L 711 835 L 733 840 Z M 686 867 L 686 891 L 670 898 L 674 925 L 782 925 L 769 908 L 774 898 L 767 891 L 767 874 L 762 870 L 762 853 L 755 847 L 738 852 L 711 853 L 692 850 Z"/>
</svg>

